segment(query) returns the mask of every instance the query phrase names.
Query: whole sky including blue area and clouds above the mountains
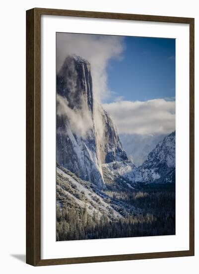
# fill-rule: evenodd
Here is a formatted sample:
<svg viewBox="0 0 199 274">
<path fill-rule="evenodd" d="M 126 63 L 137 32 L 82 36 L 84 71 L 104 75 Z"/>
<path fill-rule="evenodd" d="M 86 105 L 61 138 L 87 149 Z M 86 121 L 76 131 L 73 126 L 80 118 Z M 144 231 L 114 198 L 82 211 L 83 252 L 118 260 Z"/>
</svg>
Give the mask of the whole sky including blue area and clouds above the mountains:
<svg viewBox="0 0 199 274">
<path fill-rule="evenodd" d="M 58 33 L 58 70 L 71 54 L 90 62 L 95 101 L 119 134 L 175 130 L 175 39 Z"/>
</svg>

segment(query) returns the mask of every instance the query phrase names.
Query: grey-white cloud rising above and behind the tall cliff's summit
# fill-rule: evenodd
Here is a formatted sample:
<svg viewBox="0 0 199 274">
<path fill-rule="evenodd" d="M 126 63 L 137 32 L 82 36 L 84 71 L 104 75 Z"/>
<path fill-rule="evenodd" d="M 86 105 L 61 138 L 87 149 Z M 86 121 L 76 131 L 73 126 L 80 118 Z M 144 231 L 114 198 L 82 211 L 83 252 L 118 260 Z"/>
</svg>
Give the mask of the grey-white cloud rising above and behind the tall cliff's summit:
<svg viewBox="0 0 199 274">
<path fill-rule="evenodd" d="M 121 36 L 57 33 L 57 71 L 67 55 L 76 54 L 91 64 L 94 97 L 99 102 L 111 95 L 107 87 L 107 64 L 111 58 L 122 58 Z"/>
</svg>

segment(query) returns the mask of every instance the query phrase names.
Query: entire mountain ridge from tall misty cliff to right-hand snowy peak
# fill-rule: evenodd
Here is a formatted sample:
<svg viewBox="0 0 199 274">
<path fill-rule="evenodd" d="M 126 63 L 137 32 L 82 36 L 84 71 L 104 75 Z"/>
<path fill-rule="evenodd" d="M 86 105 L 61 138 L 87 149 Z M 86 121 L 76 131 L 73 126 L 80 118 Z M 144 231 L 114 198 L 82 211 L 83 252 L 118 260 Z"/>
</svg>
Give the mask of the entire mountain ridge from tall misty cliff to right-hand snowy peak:
<svg viewBox="0 0 199 274">
<path fill-rule="evenodd" d="M 59 164 L 101 189 L 170 182 L 175 173 L 175 142 L 171 153 L 166 149 L 170 137 L 174 133 L 159 141 L 142 165 L 136 167 L 123 148 L 113 120 L 94 100 L 90 63 L 76 55 L 66 57 L 57 75 Z"/>
</svg>

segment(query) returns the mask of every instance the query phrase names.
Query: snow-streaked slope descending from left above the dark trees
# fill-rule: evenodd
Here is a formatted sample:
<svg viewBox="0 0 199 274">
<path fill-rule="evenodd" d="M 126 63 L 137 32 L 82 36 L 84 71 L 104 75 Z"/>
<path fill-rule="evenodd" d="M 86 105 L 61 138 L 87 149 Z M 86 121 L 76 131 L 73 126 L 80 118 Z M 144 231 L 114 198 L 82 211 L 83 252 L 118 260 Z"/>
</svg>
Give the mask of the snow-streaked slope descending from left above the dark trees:
<svg viewBox="0 0 199 274">
<path fill-rule="evenodd" d="M 57 209 L 62 210 L 64 204 L 75 208 L 87 208 L 88 214 L 100 218 L 117 220 L 129 214 L 139 213 L 140 209 L 113 199 L 94 184 L 81 180 L 66 168 L 57 164 Z"/>
</svg>

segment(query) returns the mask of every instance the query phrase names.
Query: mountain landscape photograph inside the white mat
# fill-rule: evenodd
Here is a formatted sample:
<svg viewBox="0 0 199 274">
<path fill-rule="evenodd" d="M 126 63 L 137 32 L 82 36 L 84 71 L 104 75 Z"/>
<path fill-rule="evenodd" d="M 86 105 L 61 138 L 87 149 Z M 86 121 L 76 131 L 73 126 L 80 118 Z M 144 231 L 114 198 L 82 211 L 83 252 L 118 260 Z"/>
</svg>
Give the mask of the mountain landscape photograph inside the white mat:
<svg viewBox="0 0 199 274">
<path fill-rule="evenodd" d="M 176 234 L 176 39 L 56 32 L 56 241 Z"/>
</svg>

